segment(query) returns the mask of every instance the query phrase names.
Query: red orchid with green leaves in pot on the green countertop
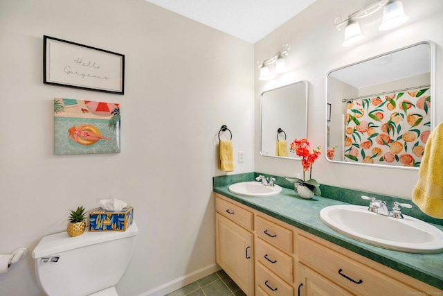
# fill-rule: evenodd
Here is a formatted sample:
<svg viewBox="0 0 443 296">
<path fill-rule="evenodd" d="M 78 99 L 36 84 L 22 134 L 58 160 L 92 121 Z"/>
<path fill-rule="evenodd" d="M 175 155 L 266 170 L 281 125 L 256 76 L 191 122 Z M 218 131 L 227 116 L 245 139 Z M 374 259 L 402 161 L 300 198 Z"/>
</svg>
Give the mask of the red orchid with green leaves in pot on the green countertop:
<svg viewBox="0 0 443 296">
<path fill-rule="evenodd" d="M 289 182 L 292 183 L 298 183 L 302 186 L 308 187 L 312 192 L 314 192 L 316 195 L 320 195 L 320 183 L 318 183 L 316 180 L 312 179 L 312 165 L 318 159 L 318 156 L 321 154 L 320 152 L 320 146 L 318 146 L 316 149 L 311 150 L 311 143 L 307 139 L 295 139 L 291 143 L 290 147 L 291 153 L 296 153 L 296 155 L 302 157 L 302 166 L 303 166 L 303 180 L 299 178 L 289 178 L 286 179 L 289 180 Z M 309 180 L 306 180 L 305 173 L 309 171 Z"/>
</svg>

